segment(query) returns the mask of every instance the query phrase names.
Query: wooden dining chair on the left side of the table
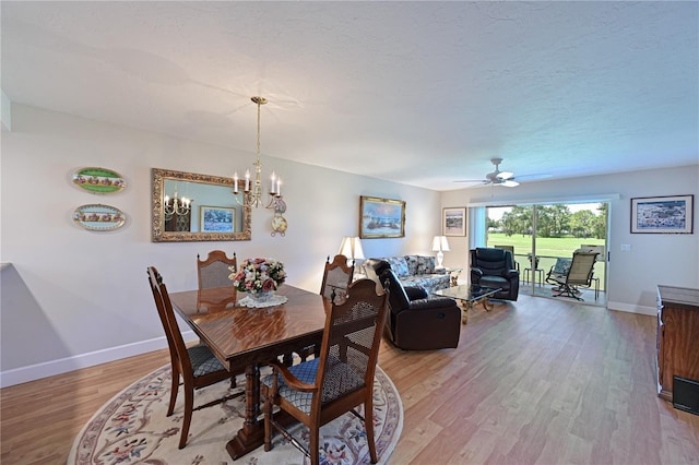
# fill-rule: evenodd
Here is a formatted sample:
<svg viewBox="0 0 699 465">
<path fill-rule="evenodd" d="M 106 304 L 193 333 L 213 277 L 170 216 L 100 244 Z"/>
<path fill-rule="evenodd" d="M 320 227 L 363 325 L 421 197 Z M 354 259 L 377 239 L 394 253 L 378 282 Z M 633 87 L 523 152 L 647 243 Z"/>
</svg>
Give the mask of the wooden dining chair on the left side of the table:
<svg viewBox="0 0 699 465">
<path fill-rule="evenodd" d="M 149 282 L 151 283 L 151 290 L 153 291 L 153 298 L 155 299 L 155 307 L 157 308 L 157 314 L 161 318 L 161 323 L 163 323 L 165 336 L 167 337 L 167 346 L 170 351 L 173 381 L 170 385 L 170 403 L 167 407 L 166 414 L 168 417 L 173 415 L 173 412 L 175 410 L 180 378 L 185 386 L 182 431 L 180 433 L 178 445 L 179 449 L 183 449 L 185 445 L 187 445 L 187 436 L 192 420 L 192 412 L 221 404 L 229 398 L 244 394 L 240 392 L 234 395 L 227 395 L 214 402 L 194 407 L 194 390 L 215 384 L 226 379 L 230 379 L 233 382 L 235 381 L 235 375 L 242 373 L 245 369 L 241 368 L 240 370 L 236 370 L 232 373 L 204 344 L 197 344 L 194 346 L 187 347 L 179 331 L 177 320 L 175 319 L 173 303 L 170 302 L 169 295 L 167 294 L 165 283 L 163 283 L 163 277 L 155 266 L 149 266 L 147 274 Z"/>
</svg>

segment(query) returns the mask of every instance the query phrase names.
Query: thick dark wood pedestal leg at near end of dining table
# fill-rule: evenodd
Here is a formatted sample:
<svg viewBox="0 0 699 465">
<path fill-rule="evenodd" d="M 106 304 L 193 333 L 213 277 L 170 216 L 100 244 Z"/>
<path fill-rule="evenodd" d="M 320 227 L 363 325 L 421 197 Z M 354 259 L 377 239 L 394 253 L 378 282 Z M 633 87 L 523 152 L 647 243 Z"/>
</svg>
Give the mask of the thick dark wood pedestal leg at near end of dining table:
<svg viewBox="0 0 699 465">
<path fill-rule="evenodd" d="M 260 415 L 260 368 L 249 365 L 245 369 L 245 422 L 226 444 L 233 460 L 239 458 L 264 443 L 264 424 Z"/>
</svg>

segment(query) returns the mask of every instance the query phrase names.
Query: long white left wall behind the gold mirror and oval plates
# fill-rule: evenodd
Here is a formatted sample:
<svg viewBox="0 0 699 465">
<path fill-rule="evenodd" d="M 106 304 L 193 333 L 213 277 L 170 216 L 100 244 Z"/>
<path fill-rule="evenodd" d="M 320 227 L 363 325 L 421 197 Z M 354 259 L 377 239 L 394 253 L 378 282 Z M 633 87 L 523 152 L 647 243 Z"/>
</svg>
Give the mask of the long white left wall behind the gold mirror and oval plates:
<svg viewBox="0 0 699 465">
<path fill-rule="evenodd" d="M 273 213 L 252 213 L 252 240 L 151 242 L 151 168 L 232 176 L 248 153 L 14 105 L 2 133 L 0 385 L 165 347 L 145 269 L 155 265 L 170 291 L 197 286 L 194 260 L 213 249 L 282 260 L 287 283 L 317 291 L 322 266 L 343 236 L 358 234 L 359 195 L 406 201 L 404 239 L 364 239 L 367 257 L 425 253 L 440 228 L 440 194 L 281 159 L 262 159 L 283 176 L 285 237 L 271 236 Z M 99 166 L 127 188 L 96 195 L 73 172 Z M 87 203 L 127 214 L 115 231 L 87 231 L 73 210 Z"/>
</svg>

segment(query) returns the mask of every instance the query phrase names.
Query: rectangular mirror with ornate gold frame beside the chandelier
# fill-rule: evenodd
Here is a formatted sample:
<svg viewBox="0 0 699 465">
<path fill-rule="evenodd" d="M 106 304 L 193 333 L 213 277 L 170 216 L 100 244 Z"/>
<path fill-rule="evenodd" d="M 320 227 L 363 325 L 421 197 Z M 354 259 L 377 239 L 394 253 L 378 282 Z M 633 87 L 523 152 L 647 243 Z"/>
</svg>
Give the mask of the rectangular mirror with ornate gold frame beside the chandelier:
<svg viewBox="0 0 699 465">
<path fill-rule="evenodd" d="M 251 239 L 250 207 L 236 201 L 232 178 L 152 168 L 151 182 L 153 242 Z M 241 182 L 237 195 L 249 195 Z"/>
</svg>

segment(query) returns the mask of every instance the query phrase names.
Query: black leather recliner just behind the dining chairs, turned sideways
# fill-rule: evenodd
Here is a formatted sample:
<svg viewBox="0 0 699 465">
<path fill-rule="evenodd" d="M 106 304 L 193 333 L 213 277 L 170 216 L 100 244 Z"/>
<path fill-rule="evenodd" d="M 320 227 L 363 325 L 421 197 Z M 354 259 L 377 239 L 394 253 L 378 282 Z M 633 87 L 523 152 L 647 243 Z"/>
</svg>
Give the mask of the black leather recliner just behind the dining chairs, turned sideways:
<svg viewBox="0 0 699 465">
<path fill-rule="evenodd" d="M 377 275 L 390 291 L 391 313 L 387 319 L 384 334 L 396 347 L 405 350 L 431 350 L 459 345 L 461 309 L 454 299 L 427 298 L 427 293 L 422 287 L 403 287 L 390 265 L 379 267 Z"/>
</svg>

